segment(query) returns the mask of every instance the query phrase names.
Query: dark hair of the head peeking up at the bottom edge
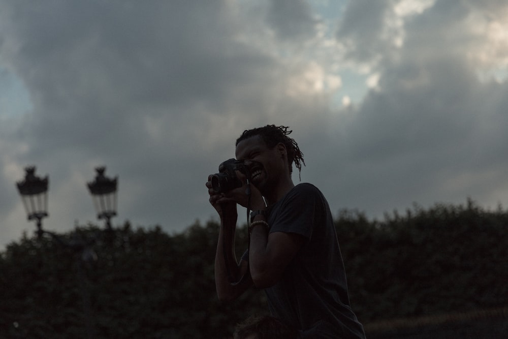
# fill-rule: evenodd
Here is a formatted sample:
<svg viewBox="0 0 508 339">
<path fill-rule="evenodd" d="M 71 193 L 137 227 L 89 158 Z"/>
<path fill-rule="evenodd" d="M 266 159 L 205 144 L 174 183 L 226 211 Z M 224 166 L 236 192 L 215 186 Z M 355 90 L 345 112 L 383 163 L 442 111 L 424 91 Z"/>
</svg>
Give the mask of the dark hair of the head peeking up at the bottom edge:
<svg viewBox="0 0 508 339">
<path fill-rule="evenodd" d="M 296 339 L 297 331 L 271 316 L 249 317 L 235 328 L 234 339 L 245 339 L 255 335 L 256 339 Z"/>
</svg>

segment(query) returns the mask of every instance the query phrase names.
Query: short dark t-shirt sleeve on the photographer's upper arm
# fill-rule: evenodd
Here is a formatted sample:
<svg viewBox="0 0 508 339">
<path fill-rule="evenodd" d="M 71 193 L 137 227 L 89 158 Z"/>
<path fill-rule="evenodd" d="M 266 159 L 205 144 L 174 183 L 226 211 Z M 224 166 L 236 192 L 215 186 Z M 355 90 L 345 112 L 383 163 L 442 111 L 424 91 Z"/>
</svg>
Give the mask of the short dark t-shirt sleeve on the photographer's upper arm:
<svg viewBox="0 0 508 339">
<path fill-rule="evenodd" d="M 319 197 L 319 191 L 310 184 L 296 186 L 277 209 L 270 232 L 297 233 L 310 239 Z"/>
</svg>

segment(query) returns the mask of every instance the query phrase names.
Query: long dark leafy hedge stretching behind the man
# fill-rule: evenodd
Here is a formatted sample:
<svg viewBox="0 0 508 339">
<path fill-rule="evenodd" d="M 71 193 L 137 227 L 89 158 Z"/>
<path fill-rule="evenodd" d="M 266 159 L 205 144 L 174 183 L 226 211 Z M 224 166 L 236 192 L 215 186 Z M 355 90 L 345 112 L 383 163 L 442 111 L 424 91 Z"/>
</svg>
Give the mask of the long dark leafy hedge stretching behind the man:
<svg viewBox="0 0 508 339">
<path fill-rule="evenodd" d="M 335 225 L 364 324 L 508 305 L 501 208 L 415 206 L 382 222 L 344 210 Z M 267 305 L 255 289 L 217 301 L 217 234 L 214 221 L 172 235 L 129 223 L 111 234 L 87 225 L 62 234 L 61 243 L 25 234 L 0 256 L 0 337 L 226 338 Z M 240 256 L 245 227 L 236 234 Z"/>
</svg>

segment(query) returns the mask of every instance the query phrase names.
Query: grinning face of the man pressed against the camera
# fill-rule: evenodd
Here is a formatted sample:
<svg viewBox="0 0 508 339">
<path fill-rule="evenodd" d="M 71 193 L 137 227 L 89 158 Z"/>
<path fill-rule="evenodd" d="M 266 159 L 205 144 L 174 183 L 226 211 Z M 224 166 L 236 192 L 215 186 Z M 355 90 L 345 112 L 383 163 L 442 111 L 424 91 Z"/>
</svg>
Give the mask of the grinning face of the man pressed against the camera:
<svg viewBox="0 0 508 339">
<path fill-rule="evenodd" d="M 281 152 L 285 152 L 282 144 L 270 149 L 259 135 L 242 140 L 236 146 L 236 159 L 245 162 L 252 184 L 262 194 L 275 187 L 280 176 L 287 172 L 288 165 Z"/>
</svg>

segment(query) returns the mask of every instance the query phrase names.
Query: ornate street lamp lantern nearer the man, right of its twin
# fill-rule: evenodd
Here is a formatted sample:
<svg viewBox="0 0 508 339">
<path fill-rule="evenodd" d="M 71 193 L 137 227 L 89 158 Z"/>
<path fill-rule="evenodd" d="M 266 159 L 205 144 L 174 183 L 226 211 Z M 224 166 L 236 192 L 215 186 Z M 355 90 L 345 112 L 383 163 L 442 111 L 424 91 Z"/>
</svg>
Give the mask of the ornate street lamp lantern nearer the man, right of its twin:
<svg viewBox="0 0 508 339">
<path fill-rule="evenodd" d="M 87 183 L 88 190 L 97 211 L 97 218 L 106 219 L 106 227 L 111 230 L 111 218 L 115 217 L 117 209 L 118 176 L 114 179 L 105 176 L 106 167 L 97 167 L 96 171 L 95 180 Z"/>
</svg>

